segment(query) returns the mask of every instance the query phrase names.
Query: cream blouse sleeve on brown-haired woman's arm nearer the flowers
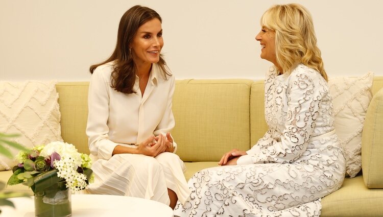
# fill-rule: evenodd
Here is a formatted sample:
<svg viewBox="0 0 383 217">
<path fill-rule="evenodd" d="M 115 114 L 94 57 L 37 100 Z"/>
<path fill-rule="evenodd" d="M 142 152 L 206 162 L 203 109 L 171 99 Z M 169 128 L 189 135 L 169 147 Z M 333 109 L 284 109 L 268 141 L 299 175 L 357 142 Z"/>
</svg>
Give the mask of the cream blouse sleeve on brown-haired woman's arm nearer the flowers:
<svg viewBox="0 0 383 217">
<path fill-rule="evenodd" d="M 109 82 L 104 79 L 102 70 L 94 70 L 88 93 L 88 123 L 86 134 L 89 137 L 90 153 L 108 160 L 117 145 L 109 140 Z"/>
</svg>

